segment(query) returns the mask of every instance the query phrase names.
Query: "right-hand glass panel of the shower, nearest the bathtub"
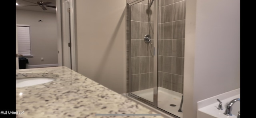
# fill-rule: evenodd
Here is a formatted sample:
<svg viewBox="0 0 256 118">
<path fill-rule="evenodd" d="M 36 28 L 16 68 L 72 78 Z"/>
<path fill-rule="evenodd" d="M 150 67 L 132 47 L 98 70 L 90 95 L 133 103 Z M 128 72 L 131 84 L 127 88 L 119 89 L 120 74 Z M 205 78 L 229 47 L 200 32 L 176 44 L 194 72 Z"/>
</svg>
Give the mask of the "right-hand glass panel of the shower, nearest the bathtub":
<svg viewBox="0 0 256 118">
<path fill-rule="evenodd" d="M 160 0 L 157 107 L 182 118 L 186 0 Z"/>
</svg>

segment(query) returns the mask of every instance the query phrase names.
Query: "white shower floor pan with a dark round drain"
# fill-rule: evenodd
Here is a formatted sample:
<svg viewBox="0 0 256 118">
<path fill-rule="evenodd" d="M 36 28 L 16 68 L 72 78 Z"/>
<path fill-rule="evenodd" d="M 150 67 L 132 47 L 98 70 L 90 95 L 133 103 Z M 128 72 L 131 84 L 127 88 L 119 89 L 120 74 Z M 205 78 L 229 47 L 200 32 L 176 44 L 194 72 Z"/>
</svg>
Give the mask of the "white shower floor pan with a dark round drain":
<svg viewBox="0 0 256 118">
<path fill-rule="evenodd" d="M 153 88 L 132 92 L 132 94 L 153 102 Z M 178 112 L 181 98 L 181 93 L 158 87 L 157 107 L 182 118 L 182 112 Z"/>
</svg>

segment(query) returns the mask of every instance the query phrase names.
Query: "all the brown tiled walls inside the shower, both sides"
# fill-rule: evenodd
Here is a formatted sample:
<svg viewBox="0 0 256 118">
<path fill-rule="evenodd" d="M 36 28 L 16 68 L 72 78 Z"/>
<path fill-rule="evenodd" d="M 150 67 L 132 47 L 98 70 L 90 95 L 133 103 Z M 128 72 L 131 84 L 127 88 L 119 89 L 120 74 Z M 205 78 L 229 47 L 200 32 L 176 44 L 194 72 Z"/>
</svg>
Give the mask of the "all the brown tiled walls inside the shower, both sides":
<svg viewBox="0 0 256 118">
<path fill-rule="evenodd" d="M 153 88 L 153 45 L 144 42 L 146 34 L 154 42 L 154 14 L 148 16 L 154 12 L 154 4 L 152 11 L 148 11 L 148 1 L 131 7 L 131 22 L 127 15 L 127 23 L 131 25 L 131 35 L 127 25 L 127 92 L 129 54 L 132 92 Z M 158 86 L 180 93 L 183 93 L 185 3 L 185 0 L 159 0 L 158 13 Z"/>
</svg>

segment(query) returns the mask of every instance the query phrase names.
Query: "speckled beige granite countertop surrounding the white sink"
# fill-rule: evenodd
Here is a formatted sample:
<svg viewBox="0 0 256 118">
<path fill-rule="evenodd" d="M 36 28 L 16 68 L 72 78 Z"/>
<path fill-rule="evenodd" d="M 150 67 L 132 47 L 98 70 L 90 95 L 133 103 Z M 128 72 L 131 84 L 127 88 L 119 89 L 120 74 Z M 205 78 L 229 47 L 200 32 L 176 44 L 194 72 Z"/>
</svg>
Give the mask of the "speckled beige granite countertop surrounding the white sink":
<svg viewBox="0 0 256 118">
<path fill-rule="evenodd" d="M 16 88 L 16 118 L 163 118 L 100 116 L 157 113 L 64 66 L 16 70 L 16 79 L 24 77 L 55 80 Z"/>
</svg>

